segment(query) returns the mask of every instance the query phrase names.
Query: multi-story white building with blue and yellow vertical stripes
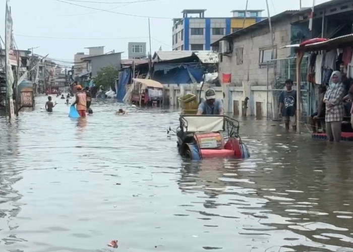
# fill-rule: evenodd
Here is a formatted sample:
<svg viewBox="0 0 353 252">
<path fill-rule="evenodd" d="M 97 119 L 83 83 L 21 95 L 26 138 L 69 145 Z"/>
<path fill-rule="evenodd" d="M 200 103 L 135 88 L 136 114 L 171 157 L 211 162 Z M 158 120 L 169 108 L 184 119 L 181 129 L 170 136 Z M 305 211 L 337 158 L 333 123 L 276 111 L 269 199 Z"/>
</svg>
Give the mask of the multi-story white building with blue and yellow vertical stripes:
<svg viewBox="0 0 353 252">
<path fill-rule="evenodd" d="M 211 50 L 211 44 L 224 35 L 264 19 L 263 10 L 234 10 L 229 18 L 205 18 L 205 11 L 184 10 L 183 18 L 173 19 L 173 50 Z"/>
</svg>

